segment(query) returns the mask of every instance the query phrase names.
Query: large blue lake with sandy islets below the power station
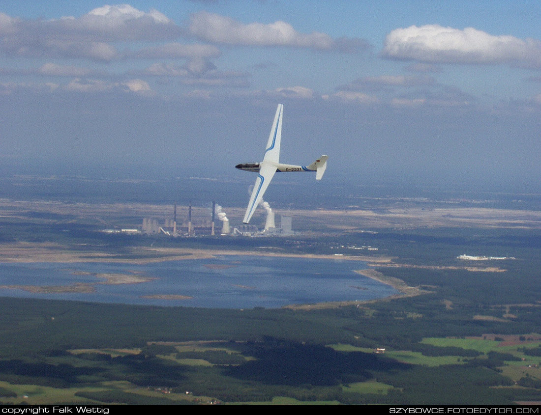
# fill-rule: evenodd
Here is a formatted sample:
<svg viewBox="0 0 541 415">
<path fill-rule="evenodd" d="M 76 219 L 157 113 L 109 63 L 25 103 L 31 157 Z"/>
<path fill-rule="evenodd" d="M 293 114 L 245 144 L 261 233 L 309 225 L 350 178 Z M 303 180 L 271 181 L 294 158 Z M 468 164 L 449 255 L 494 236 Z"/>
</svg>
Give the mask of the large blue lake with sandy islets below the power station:
<svg viewBox="0 0 541 415">
<path fill-rule="evenodd" d="M 360 261 L 258 256 L 144 265 L 0 263 L 0 296 L 247 309 L 362 301 L 398 292 L 354 272 L 366 268 Z M 76 284 L 75 290 L 93 292 L 58 292 Z M 32 286 L 39 292 L 28 291 Z"/>
</svg>

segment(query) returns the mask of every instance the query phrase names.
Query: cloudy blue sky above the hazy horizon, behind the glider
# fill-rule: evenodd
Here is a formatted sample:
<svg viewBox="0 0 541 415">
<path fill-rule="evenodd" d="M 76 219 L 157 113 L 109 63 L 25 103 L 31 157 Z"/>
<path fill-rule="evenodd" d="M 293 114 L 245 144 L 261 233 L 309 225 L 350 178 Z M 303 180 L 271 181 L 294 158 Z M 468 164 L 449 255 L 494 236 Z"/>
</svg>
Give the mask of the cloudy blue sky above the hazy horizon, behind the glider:
<svg viewBox="0 0 541 415">
<path fill-rule="evenodd" d="M 538 183 L 537 1 L 0 2 L 0 163 Z M 1 172 L 1 170 L 0 170 Z"/>
</svg>

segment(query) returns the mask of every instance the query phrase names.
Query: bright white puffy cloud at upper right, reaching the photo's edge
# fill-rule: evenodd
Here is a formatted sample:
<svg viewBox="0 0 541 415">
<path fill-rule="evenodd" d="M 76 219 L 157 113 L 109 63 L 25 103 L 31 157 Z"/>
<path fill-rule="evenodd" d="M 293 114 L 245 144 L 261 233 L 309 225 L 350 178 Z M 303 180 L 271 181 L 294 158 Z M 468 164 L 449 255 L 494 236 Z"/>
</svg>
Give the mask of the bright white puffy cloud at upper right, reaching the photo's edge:
<svg viewBox="0 0 541 415">
<path fill-rule="evenodd" d="M 474 28 L 438 24 L 395 29 L 385 38 L 381 55 L 427 63 L 499 64 L 541 68 L 541 42 L 493 36 Z"/>
</svg>

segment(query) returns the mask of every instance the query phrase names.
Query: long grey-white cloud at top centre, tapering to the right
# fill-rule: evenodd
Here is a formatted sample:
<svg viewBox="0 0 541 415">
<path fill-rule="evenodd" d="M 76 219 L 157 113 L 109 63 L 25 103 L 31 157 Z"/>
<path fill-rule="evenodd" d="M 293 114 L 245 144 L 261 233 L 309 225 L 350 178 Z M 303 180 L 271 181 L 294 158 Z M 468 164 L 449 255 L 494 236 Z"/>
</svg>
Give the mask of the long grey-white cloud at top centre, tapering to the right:
<svg viewBox="0 0 541 415">
<path fill-rule="evenodd" d="M 340 50 L 346 52 L 367 49 L 361 39 L 340 38 L 312 32 L 303 34 L 289 23 L 241 23 L 230 17 L 206 11 L 192 15 L 188 32 L 208 42 L 228 45 L 290 46 L 316 50 Z"/>
</svg>

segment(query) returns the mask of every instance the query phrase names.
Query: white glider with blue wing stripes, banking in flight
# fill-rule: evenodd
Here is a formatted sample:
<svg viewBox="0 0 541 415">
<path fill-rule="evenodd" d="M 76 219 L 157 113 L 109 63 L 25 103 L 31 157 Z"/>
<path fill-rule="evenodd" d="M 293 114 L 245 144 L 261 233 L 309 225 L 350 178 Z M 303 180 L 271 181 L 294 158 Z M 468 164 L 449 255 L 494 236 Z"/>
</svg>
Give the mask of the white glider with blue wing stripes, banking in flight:
<svg viewBox="0 0 541 415">
<path fill-rule="evenodd" d="M 282 136 L 282 112 L 283 105 L 278 104 L 276 109 L 276 115 L 274 116 L 274 123 L 272 125 L 271 134 L 269 135 L 269 140 L 267 142 L 267 147 L 265 149 L 265 156 L 263 161 L 260 163 L 246 163 L 246 164 L 237 164 L 235 167 L 240 170 L 254 171 L 258 173 L 258 177 L 255 179 L 254 190 L 252 191 L 252 196 L 250 196 L 250 202 L 248 202 L 248 207 L 246 209 L 246 214 L 243 223 L 250 222 L 252 215 L 254 214 L 255 208 L 258 207 L 261 199 L 263 198 L 263 193 L 267 190 L 271 179 L 274 176 L 274 173 L 278 172 L 290 172 L 290 171 L 315 171 L 315 179 L 321 180 L 323 173 L 327 168 L 327 156 L 321 156 L 319 159 L 315 160 L 312 164 L 308 166 L 295 166 L 292 164 L 281 164 L 280 160 L 280 139 Z"/>
</svg>

